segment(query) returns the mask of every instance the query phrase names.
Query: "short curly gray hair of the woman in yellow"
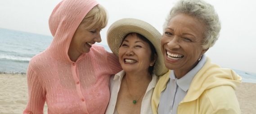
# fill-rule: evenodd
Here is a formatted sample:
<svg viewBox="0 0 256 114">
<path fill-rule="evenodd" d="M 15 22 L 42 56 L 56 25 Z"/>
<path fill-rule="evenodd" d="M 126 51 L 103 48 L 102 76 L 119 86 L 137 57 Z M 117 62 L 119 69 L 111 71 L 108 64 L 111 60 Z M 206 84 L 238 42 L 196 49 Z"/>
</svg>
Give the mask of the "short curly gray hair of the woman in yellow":
<svg viewBox="0 0 256 114">
<path fill-rule="evenodd" d="M 211 48 L 218 40 L 221 29 L 219 16 L 214 7 L 203 0 L 179 0 L 168 14 L 163 28 L 166 29 L 170 20 L 180 13 L 193 16 L 207 26 L 202 48 Z"/>
</svg>

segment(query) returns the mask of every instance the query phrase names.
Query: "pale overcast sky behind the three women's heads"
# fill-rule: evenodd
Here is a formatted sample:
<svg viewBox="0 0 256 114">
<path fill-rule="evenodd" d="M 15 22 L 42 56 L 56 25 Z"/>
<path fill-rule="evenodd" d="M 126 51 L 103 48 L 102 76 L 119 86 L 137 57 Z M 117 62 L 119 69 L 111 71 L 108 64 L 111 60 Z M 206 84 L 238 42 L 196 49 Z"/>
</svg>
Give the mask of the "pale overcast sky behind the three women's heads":
<svg viewBox="0 0 256 114">
<path fill-rule="evenodd" d="M 49 16 L 61 0 L 0 0 L 0 28 L 51 35 Z M 162 33 L 167 13 L 177 0 L 98 0 L 108 11 L 101 32 L 107 45 L 108 27 L 121 18 L 137 18 Z M 256 74 L 256 0 L 206 0 L 221 21 L 220 37 L 206 55 L 225 68 Z"/>
</svg>

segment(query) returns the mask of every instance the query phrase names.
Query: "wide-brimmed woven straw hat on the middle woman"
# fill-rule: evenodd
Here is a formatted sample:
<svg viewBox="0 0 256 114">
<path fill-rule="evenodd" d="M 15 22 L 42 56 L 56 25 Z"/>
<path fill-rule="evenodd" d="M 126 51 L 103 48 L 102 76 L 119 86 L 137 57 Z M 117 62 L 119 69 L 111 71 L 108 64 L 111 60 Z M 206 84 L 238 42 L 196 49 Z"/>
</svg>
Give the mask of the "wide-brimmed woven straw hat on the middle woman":
<svg viewBox="0 0 256 114">
<path fill-rule="evenodd" d="M 155 62 L 153 72 L 158 76 L 164 75 L 168 69 L 165 67 L 160 48 L 160 39 L 162 35 L 159 33 L 159 31 L 157 31 L 157 29 L 155 29 L 147 22 L 134 18 L 123 18 L 114 22 L 108 28 L 107 32 L 108 46 L 112 53 L 118 56 L 118 51 L 122 43 L 122 39 L 125 37 L 125 35 L 131 32 L 143 35 L 154 45 L 158 57 L 157 61 Z"/>
</svg>

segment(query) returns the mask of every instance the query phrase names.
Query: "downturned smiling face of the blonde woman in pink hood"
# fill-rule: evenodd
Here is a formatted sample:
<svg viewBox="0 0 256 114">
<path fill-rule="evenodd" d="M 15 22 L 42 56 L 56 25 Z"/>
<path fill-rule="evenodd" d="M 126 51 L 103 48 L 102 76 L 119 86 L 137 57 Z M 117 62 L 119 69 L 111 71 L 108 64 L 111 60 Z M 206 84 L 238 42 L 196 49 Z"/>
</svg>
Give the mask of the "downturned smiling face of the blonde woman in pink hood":
<svg viewBox="0 0 256 114">
<path fill-rule="evenodd" d="M 85 29 L 86 26 L 88 25 L 80 24 L 73 35 L 68 49 L 68 55 L 71 59 L 73 57 L 77 59 L 82 53 L 89 53 L 92 44 L 101 42 L 101 27 L 94 27 L 87 30 Z"/>
</svg>

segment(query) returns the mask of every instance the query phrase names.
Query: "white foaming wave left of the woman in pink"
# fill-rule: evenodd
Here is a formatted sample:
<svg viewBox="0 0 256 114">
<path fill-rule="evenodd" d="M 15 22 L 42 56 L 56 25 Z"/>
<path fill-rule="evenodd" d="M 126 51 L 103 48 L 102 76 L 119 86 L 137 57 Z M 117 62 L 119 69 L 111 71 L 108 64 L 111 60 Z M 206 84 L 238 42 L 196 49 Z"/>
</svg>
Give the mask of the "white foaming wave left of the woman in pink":
<svg viewBox="0 0 256 114">
<path fill-rule="evenodd" d="M 31 60 L 31 58 L 29 58 L 29 57 L 17 57 L 17 56 L 11 56 L 11 55 L 0 55 L 0 60 L 29 62 Z"/>
</svg>

